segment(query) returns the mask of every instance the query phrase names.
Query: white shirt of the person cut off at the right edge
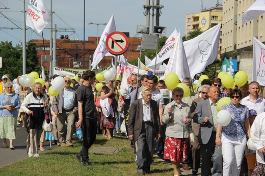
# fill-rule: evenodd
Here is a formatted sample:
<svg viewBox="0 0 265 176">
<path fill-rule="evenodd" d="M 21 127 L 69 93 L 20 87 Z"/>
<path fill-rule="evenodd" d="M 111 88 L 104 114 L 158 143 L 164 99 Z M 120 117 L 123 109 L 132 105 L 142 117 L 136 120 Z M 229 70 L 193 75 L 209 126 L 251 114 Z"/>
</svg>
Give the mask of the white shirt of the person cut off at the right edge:
<svg viewBox="0 0 265 176">
<path fill-rule="evenodd" d="M 257 162 L 265 164 L 263 154 L 258 152 L 258 149 L 265 147 L 265 112 L 256 116 L 250 129 L 250 136 L 256 148 Z"/>
</svg>

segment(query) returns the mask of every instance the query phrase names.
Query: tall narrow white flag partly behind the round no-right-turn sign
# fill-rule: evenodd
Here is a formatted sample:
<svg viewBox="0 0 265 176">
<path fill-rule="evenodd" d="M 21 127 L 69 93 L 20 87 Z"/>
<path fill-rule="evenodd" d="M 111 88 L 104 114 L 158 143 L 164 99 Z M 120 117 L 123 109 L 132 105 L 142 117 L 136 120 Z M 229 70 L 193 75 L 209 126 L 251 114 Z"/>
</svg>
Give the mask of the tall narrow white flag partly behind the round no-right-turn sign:
<svg viewBox="0 0 265 176">
<path fill-rule="evenodd" d="M 114 21 L 114 15 L 112 15 L 110 21 L 108 22 L 107 26 L 105 27 L 101 37 L 100 37 L 100 41 L 98 43 L 98 46 L 94 52 L 93 55 L 93 62 L 91 64 L 92 69 L 93 70 L 97 64 L 102 60 L 102 58 L 104 57 L 105 54 L 107 54 L 109 52 L 109 50 L 107 49 L 106 46 L 106 39 L 107 37 L 116 31 L 116 25 L 115 25 L 115 21 Z"/>
</svg>

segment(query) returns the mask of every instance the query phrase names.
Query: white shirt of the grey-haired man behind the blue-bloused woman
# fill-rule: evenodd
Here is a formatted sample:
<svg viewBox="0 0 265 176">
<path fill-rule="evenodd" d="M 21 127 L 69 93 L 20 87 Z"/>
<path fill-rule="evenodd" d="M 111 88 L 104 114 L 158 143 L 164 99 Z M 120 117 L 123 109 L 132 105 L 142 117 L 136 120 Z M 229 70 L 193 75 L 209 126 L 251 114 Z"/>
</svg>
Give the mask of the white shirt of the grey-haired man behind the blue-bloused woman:
<svg viewBox="0 0 265 176">
<path fill-rule="evenodd" d="M 257 114 L 265 111 L 265 99 L 263 99 L 260 95 L 255 103 L 250 99 L 249 95 L 241 100 L 241 104 L 247 106 L 249 109 L 256 110 Z"/>
</svg>

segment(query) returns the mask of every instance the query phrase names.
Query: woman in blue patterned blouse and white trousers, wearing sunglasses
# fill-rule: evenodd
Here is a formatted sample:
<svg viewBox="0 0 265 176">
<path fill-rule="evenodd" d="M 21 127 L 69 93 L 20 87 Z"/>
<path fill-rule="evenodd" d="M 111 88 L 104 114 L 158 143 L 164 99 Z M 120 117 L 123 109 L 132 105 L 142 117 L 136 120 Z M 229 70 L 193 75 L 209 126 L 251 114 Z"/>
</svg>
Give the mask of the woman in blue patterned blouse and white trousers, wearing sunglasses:
<svg viewBox="0 0 265 176">
<path fill-rule="evenodd" d="M 223 175 L 240 175 L 246 134 L 250 136 L 249 108 L 240 104 L 242 93 L 239 89 L 231 91 L 230 99 L 232 103 L 223 105 L 221 110 L 231 113 L 231 122 L 224 127 L 217 126 L 216 144 L 222 147 Z"/>
</svg>

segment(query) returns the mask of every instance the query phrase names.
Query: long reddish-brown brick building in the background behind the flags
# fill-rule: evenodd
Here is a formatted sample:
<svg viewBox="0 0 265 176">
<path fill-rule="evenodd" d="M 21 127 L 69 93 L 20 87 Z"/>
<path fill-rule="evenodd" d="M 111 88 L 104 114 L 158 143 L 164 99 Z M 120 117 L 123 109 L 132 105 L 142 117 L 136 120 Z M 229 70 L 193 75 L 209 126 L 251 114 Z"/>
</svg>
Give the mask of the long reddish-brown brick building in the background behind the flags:
<svg viewBox="0 0 265 176">
<path fill-rule="evenodd" d="M 98 39 L 100 40 L 100 39 Z M 141 37 L 128 37 L 129 46 L 127 51 L 123 54 L 128 61 L 133 60 L 140 56 L 141 48 Z M 41 63 L 41 55 L 45 55 L 43 41 L 33 40 L 36 43 L 36 49 L 38 52 L 39 63 Z M 73 65 L 73 62 L 81 62 L 79 65 L 80 69 L 89 69 L 89 60 L 91 59 L 97 47 L 97 37 L 88 37 L 85 41 L 85 53 L 84 53 L 84 41 L 72 40 L 68 36 L 61 36 L 60 39 L 56 39 L 57 49 L 56 49 L 56 60 L 58 67 L 65 68 L 77 68 L 77 65 Z M 46 55 L 49 55 L 49 40 L 44 41 Z M 84 62 L 85 54 L 85 62 Z M 52 54 L 51 54 L 52 55 Z M 111 65 L 112 56 L 104 56 L 100 61 L 98 66 L 105 67 Z M 46 62 L 42 62 L 42 65 L 46 66 Z M 47 67 L 49 68 L 49 62 L 47 62 Z"/>
</svg>

